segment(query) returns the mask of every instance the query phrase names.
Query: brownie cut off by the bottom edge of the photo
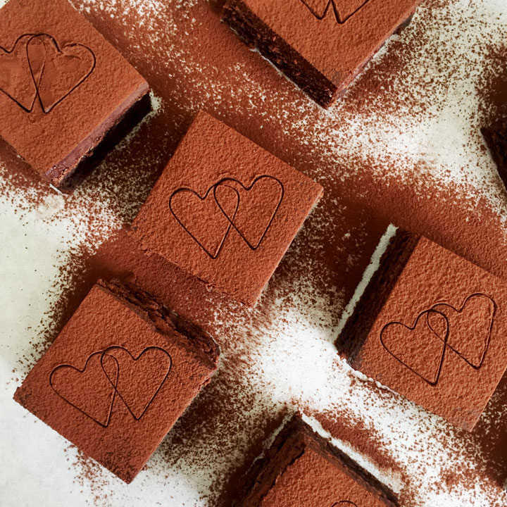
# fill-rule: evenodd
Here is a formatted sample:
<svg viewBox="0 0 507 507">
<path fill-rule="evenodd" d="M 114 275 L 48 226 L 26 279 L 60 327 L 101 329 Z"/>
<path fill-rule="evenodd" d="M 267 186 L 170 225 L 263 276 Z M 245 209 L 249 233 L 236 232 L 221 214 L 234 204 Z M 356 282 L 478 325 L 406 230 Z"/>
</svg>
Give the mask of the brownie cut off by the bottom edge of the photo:
<svg viewBox="0 0 507 507">
<path fill-rule="evenodd" d="M 239 507 L 394 507 L 394 493 L 299 415 L 246 478 Z"/>
</svg>

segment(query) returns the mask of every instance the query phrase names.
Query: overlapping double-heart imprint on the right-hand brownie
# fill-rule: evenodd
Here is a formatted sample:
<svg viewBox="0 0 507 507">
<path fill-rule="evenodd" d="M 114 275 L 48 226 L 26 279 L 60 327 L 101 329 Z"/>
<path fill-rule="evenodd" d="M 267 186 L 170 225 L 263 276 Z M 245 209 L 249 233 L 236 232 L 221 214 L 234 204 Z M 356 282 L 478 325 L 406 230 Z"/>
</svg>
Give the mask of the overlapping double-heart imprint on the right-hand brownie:
<svg viewBox="0 0 507 507">
<path fill-rule="evenodd" d="M 458 308 L 446 302 L 421 312 L 413 325 L 399 321 L 380 332 L 384 349 L 428 384 L 439 382 L 447 351 L 480 370 L 486 358 L 496 315 L 494 300 L 477 292 Z"/>
</svg>

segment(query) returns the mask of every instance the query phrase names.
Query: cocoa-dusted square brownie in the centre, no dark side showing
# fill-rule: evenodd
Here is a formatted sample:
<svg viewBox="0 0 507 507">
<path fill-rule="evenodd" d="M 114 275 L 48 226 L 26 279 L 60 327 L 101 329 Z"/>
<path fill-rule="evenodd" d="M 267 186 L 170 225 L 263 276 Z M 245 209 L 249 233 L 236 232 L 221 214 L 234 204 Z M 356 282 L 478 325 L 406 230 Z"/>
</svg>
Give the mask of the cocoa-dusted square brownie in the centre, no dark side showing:
<svg viewBox="0 0 507 507">
<path fill-rule="evenodd" d="M 253 305 L 323 189 L 199 113 L 132 224 L 142 248 Z"/>
</svg>

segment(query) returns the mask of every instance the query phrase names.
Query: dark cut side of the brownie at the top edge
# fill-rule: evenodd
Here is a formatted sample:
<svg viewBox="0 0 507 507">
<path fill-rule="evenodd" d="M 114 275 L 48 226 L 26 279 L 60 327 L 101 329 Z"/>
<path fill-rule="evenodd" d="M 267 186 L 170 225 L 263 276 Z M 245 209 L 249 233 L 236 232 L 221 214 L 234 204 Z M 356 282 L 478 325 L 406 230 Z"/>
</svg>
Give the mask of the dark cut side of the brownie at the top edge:
<svg viewBox="0 0 507 507">
<path fill-rule="evenodd" d="M 337 99 L 337 86 L 263 23 L 244 2 L 227 1 L 223 7 L 223 20 L 240 39 L 251 48 L 256 47 L 320 106 L 328 108 Z"/>
</svg>

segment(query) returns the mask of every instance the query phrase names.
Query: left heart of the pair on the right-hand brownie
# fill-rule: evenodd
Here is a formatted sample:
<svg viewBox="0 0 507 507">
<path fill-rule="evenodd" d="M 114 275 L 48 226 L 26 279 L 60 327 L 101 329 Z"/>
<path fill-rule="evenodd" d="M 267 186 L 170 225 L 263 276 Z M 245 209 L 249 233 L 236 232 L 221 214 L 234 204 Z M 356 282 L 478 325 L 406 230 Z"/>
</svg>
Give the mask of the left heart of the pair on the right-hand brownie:
<svg viewBox="0 0 507 507">
<path fill-rule="evenodd" d="M 434 320 L 433 328 L 427 325 L 428 318 Z M 437 385 L 442 373 L 448 340 L 447 318 L 434 309 L 420 313 L 411 326 L 391 322 L 380 332 L 384 349 L 432 386 Z"/>
</svg>

